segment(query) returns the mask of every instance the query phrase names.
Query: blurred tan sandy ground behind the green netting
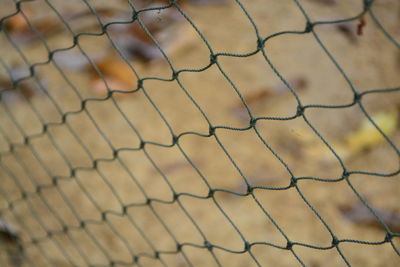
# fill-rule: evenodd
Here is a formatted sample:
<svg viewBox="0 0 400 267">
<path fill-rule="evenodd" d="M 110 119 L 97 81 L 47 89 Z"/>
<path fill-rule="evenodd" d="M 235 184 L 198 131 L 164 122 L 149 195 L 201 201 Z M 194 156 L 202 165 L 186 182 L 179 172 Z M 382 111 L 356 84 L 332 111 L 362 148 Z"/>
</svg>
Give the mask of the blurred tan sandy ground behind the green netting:
<svg viewBox="0 0 400 267">
<path fill-rule="evenodd" d="M 116 2 L 88 3 L 128 10 L 126 1 Z M 266 41 L 266 56 L 259 51 L 246 57 L 234 55 L 254 52 L 257 35 L 243 8 L 266 38 L 306 28 L 296 1 L 241 0 L 242 7 L 233 0 L 193 2 L 182 10 L 214 54 L 222 54 L 218 65 L 201 70 L 210 62 L 210 50 L 183 19 L 175 33 L 182 31 L 184 37 L 167 54 L 175 70 L 191 71 L 171 81 L 165 59 L 146 64 L 130 59 L 139 77 L 159 79 L 145 79 L 137 92 L 82 106 L 106 94 L 94 90 L 90 71 L 75 67 L 84 58 L 79 49 L 98 58 L 113 48 L 107 35 L 99 35 L 100 27 L 89 28 L 96 34 L 81 36 L 79 46 L 63 28 L 44 38 L 47 48 L 73 48 L 39 64 L 34 77 L 21 82 L 34 88 L 34 95 L 21 100 L 3 92 L 0 218 L 16 228 L 16 243 L 24 251 L 18 252 L 13 240 L 2 242 L 0 265 L 286 267 L 302 262 L 329 267 L 346 266 L 346 259 L 351 266 L 399 266 L 399 237 L 383 242 L 387 231 L 381 224 L 356 222 L 343 211 L 360 205 L 361 197 L 397 218 L 390 228 L 399 235 L 400 181 L 392 175 L 399 170 L 398 152 L 387 141 L 357 153 L 346 150 L 346 138 L 365 120 L 358 104 L 306 108 L 306 119 L 282 120 L 296 114 L 298 102 L 281 78 L 303 106 L 352 103 L 346 79 L 360 92 L 398 88 L 400 2 L 376 0 L 373 5 L 394 42 L 366 15 L 361 35 L 356 34 L 359 20 L 317 25 L 314 33 L 277 35 Z M 298 1 L 311 21 L 356 16 L 362 2 Z M 49 3 L 61 11 L 87 9 L 78 0 L 22 6 L 35 11 L 38 20 L 59 21 Z M 1 17 L 15 12 L 13 1 L 1 4 Z M 78 30 L 87 21 L 67 22 Z M 30 65 L 48 60 L 42 41 L 19 43 L 11 35 L 18 51 L 4 31 L 0 36 L 1 77 L 7 77 L 4 66 L 24 66 L 21 54 Z M 114 57 L 123 62 L 117 53 Z M 29 69 L 21 73 L 29 76 Z M 132 84 L 131 90 L 136 88 Z M 240 95 L 259 98 L 249 105 L 259 118 L 255 127 L 249 128 Z M 366 94 L 362 104 L 371 115 L 388 112 L 399 106 L 400 94 Z M 211 136 L 210 125 L 216 127 Z M 400 131 L 389 137 L 398 145 Z M 360 173 L 334 181 L 343 175 L 341 163 Z M 292 176 L 304 179 L 289 187 Z M 255 187 L 251 194 L 246 182 Z M 7 238 L 5 230 L 0 233 Z M 338 248 L 331 248 L 332 234 L 340 241 Z M 289 240 L 291 250 L 285 249 Z"/>
</svg>

